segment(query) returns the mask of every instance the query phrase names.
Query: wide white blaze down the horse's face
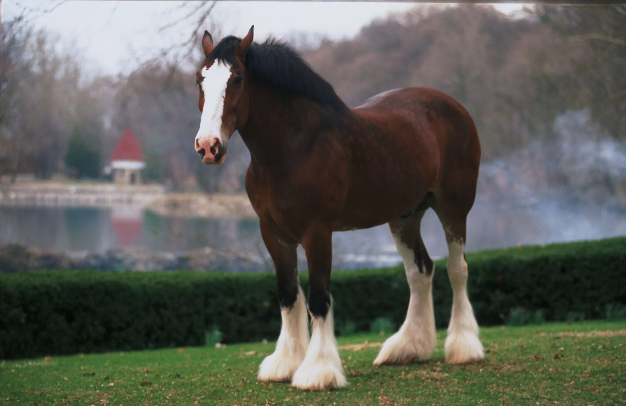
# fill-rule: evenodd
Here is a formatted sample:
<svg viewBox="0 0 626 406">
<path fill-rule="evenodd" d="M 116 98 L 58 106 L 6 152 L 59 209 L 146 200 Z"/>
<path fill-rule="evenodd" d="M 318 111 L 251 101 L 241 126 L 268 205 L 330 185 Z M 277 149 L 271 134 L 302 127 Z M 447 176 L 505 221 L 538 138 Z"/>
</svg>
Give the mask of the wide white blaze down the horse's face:
<svg viewBox="0 0 626 406">
<path fill-rule="evenodd" d="M 228 78 L 230 78 L 230 66 L 215 61 L 210 68 L 202 68 L 202 91 L 204 92 L 204 105 L 200 118 L 200 129 L 196 135 L 198 142 L 217 138 L 222 140 L 222 113 L 224 110 L 224 98 Z"/>
</svg>

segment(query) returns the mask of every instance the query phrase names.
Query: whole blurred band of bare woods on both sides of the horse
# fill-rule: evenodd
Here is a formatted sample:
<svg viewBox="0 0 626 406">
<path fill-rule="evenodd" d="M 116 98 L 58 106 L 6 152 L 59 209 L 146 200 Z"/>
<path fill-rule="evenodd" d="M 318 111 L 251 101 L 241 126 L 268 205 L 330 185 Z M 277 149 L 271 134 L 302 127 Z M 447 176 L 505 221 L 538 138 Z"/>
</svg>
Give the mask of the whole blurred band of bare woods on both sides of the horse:
<svg viewBox="0 0 626 406">
<path fill-rule="evenodd" d="M 53 36 L 23 20 L 3 23 L 2 41 L 1 174 L 65 172 L 72 139 L 74 148 L 88 140 L 105 165 L 131 127 L 146 149 L 148 179 L 176 190 L 243 190 L 249 154 L 240 137 L 233 136 L 225 164 L 211 170 L 193 150 L 195 67 L 163 62 L 129 76 L 91 77 L 80 55 L 59 51 Z M 354 38 L 301 50 L 351 107 L 406 86 L 458 99 L 483 145 L 483 191 L 533 179 L 529 187 L 558 185 L 623 202 L 624 5 L 536 5 L 515 17 L 485 5 L 416 6 Z M 82 133 L 72 138 L 75 128 Z M 592 162 L 581 145 L 595 154 Z"/>
</svg>

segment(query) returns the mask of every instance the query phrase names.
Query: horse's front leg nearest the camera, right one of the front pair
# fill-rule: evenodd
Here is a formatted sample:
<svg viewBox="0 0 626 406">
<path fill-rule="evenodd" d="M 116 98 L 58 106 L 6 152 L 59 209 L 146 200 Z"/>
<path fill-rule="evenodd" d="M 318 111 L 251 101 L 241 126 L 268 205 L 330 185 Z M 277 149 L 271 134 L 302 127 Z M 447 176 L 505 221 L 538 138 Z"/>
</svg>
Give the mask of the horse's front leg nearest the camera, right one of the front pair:
<svg viewBox="0 0 626 406">
<path fill-rule="evenodd" d="M 292 380 L 292 385 L 299 389 L 324 390 L 347 385 L 332 324 L 331 236 L 327 227 L 311 227 L 302 238 L 309 264 L 312 332 L 307 355 Z"/>
</svg>

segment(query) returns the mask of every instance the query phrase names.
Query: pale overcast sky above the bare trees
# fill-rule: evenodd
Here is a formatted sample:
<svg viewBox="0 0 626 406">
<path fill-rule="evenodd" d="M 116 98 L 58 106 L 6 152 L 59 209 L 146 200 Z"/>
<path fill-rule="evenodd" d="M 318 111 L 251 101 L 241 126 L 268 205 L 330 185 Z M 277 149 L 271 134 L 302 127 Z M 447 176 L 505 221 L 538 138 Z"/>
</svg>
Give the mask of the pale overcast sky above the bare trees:
<svg viewBox="0 0 626 406">
<path fill-rule="evenodd" d="M 116 75 L 128 73 L 136 68 L 137 60 L 145 60 L 158 49 L 182 43 L 187 38 L 192 23 L 178 24 L 159 33 L 160 27 L 198 4 L 191 2 L 181 9 L 183 3 L 72 0 L 59 5 L 56 0 L 2 0 L 2 19 L 13 18 L 23 8 L 41 11 L 58 5 L 50 13 L 31 14 L 32 24 L 58 34 L 62 46 L 78 48 L 92 73 Z M 342 39 L 353 37 L 373 19 L 416 6 L 420 4 L 220 1 L 213 9 L 212 19 L 218 32 L 224 35 L 244 36 L 254 24 L 255 41 L 297 32 Z M 523 5 L 496 4 L 495 7 L 503 13 L 515 13 Z M 215 40 L 218 41 L 218 37 Z"/>
</svg>

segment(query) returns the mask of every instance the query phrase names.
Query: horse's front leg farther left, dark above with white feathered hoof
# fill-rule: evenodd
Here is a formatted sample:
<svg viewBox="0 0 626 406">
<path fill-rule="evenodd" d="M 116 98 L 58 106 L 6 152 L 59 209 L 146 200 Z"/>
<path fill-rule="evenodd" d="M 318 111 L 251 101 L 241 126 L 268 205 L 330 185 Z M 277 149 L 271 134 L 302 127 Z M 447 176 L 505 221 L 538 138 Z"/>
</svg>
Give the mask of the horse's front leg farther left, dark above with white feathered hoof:
<svg viewBox="0 0 626 406">
<path fill-rule="evenodd" d="M 261 223 L 261 236 L 276 268 L 282 328 L 276 350 L 259 367 L 259 380 L 289 382 L 309 345 L 307 304 L 297 276 L 297 244 L 280 241 Z"/>
</svg>

